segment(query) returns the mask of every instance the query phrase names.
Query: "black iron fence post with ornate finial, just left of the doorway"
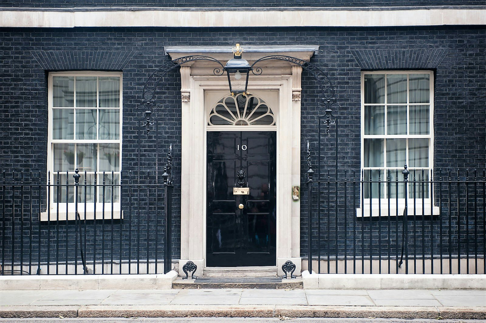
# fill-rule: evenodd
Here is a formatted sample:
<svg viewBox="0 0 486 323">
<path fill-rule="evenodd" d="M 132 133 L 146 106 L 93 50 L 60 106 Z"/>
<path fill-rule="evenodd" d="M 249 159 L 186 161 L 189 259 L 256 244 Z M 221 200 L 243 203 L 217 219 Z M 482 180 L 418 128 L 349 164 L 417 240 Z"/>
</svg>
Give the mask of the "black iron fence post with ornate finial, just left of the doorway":
<svg viewBox="0 0 486 323">
<path fill-rule="evenodd" d="M 162 174 L 164 180 L 164 213 L 165 213 L 165 237 L 164 237 L 164 274 L 172 270 L 172 145 L 167 153 L 167 164 Z"/>
</svg>

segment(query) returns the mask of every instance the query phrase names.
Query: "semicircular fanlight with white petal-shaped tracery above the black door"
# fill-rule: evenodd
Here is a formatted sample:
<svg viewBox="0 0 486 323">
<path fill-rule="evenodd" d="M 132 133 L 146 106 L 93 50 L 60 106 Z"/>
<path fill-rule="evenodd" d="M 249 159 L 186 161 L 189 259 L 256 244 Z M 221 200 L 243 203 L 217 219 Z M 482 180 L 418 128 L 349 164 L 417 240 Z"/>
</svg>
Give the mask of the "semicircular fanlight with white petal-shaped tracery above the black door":
<svg viewBox="0 0 486 323">
<path fill-rule="evenodd" d="M 227 95 L 214 105 L 208 126 L 275 126 L 274 113 L 260 97 Z"/>
</svg>

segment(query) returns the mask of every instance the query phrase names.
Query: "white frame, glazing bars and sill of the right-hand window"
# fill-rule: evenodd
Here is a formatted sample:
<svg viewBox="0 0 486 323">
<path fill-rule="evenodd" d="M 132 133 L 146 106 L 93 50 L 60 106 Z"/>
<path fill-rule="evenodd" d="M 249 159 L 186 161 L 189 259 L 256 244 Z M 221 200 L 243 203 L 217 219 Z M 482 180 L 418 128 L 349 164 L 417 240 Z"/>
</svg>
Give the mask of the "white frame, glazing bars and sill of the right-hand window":
<svg viewBox="0 0 486 323">
<path fill-rule="evenodd" d="M 385 101 L 384 103 L 364 103 L 364 76 L 367 74 L 406 74 L 407 75 L 407 103 L 390 103 L 388 104 L 387 101 L 387 96 L 386 96 L 386 91 L 387 91 L 387 86 L 386 86 L 386 77 L 385 77 L 385 92 L 384 92 L 384 97 Z M 402 106 L 407 106 L 407 133 L 409 132 L 409 121 L 410 121 L 410 105 L 427 105 L 427 103 L 409 103 L 409 75 L 410 74 L 428 74 L 429 75 L 429 134 L 427 135 L 416 135 L 416 134 L 405 134 L 405 135 L 388 135 L 388 134 L 383 134 L 383 135 L 365 135 L 364 134 L 364 111 L 365 111 L 365 106 L 384 106 L 384 111 L 385 111 L 385 116 L 384 116 L 384 131 L 386 133 L 386 127 L 387 127 L 387 118 L 386 118 L 386 107 L 388 105 L 402 105 Z M 399 171 L 399 183 L 403 185 L 403 178 L 401 176 L 401 172 L 403 171 L 403 166 L 400 167 L 385 167 L 386 165 L 386 141 L 383 144 L 383 167 L 366 167 L 364 169 L 364 139 L 429 139 L 429 173 L 431 173 L 431 170 L 433 170 L 433 165 L 434 165 L 434 73 L 433 71 L 427 71 L 427 70 L 407 70 L 407 71 L 362 71 L 361 72 L 361 170 L 378 170 L 384 169 L 384 173 L 382 173 L 382 181 L 387 180 L 387 170 L 392 170 L 395 172 L 395 170 Z M 408 140 L 406 143 L 406 160 L 408 161 Z M 413 180 L 413 172 L 415 169 L 425 169 L 423 167 L 408 167 L 410 171 L 409 175 L 409 181 Z M 417 176 L 421 176 L 421 172 L 417 173 Z M 367 178 L 364 178 L 364 180 L 367 180 Z M 366 185 L 365 183 L 364 185 Z M 356 210 L 356 216 L 357 217 L 369 217 L 369 216 L 396 216 L 396 215 L 403 215 L 404 213 L 404 207 L 405 207 L 405 198 L 388 198 L 386 196 L 386 188 L 382 187 L 382 190 L 384 190 L 385 197 L 383 198 L 363 198 L 364 192 L 362 191 L 360 187 L 360 205 L 361 207 Z M 429 197 L 428 198 L 410 198 L 410 196 L 407 196 L 408 198 L 408 214 L 409 215 L 422 215 L 422 209 L 424 210 L 425 215 L 438 215 L 439 214 L 439 208 L 433 206 L 434 205 L 434 196 L 431 195 L 431 190 L 429 189 Z M 414 204 L 415 201 L 415 204 Z M 390 205 L 388 207 L 388 204 Z"/>
</svg>

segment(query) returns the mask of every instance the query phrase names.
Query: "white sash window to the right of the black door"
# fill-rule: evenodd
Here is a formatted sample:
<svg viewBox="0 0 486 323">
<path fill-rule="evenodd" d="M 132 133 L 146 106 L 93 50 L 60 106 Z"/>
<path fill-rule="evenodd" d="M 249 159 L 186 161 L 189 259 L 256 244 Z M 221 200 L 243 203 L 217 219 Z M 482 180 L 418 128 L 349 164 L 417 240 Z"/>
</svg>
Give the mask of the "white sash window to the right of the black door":
<svg viewBox="0 0 486 323">
<path fill-rule="evenodd" d="M 410 181 L 414 176 L 417 182 L 430 180 L 434 146 L 433 73 L 363 72 L 361 102 L 362 176 L 365 181 L 370 178 L 374 181 L 363 185 L 365 205 L 370 198 L 371 205 L 380 203 L 379 199 L 403 199 L 404 164 L 410 171 Z M 397 177 L 399 185 L 377 182 L 379 178 L 395 182 Z M 430 205 L 430 184 L 410 183 L 408 196 L 427 199 Z"/>
</svg>

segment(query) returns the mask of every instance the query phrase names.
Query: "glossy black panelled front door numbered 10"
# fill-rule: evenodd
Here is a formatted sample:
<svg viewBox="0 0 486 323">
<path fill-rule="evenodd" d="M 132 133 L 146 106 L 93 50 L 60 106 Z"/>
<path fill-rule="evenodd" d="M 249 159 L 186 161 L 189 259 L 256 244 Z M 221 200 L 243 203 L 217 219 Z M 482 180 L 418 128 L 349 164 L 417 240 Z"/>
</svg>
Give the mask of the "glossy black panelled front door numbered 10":
<svg viewBox="0 0 486 323">
<path fill-rule="evenodd" d="M 207 266 L 276 265 L 275 131 L 209 131 L 207 147 Z"/>
</svg>

